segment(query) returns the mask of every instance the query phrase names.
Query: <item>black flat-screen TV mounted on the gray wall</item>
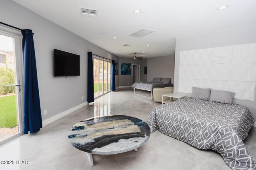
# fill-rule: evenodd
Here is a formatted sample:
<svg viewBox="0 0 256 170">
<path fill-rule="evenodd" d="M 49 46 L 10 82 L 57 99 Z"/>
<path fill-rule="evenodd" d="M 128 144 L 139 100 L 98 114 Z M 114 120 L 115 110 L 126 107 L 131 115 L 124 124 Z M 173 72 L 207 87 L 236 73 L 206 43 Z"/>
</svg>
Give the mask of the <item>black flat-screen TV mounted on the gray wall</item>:
<svg viewBox="0 0 256 170">
<path fill-rule="evenodd" d="M 80 76 L 80 56 L 54 49 L 54 76 Z"/>
</svg>

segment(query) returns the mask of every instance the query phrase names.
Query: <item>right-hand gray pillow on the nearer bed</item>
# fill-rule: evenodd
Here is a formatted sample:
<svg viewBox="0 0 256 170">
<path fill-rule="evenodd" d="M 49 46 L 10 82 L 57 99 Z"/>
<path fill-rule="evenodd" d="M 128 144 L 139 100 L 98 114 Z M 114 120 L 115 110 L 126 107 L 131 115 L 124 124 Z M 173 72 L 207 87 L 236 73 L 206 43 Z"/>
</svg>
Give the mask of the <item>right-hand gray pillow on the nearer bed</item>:
<svg viewBox="0 0 256 170">
<path fill-rule="evenodd" d="M 232 104 L 232 100 L 233 100 L 235 94 L 236 93 L 234 93 L 234 92 L 211 89 L 210 101 Z"/>
</svg>

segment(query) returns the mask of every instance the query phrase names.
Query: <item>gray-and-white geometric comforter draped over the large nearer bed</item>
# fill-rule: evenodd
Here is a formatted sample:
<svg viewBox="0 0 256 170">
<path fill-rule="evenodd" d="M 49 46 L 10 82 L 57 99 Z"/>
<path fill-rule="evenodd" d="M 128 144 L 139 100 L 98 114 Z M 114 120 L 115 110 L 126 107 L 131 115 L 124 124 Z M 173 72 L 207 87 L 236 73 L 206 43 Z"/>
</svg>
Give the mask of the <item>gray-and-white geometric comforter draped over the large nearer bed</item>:
<svg viewBox="0 0 256 170">
<path fill-rule="evenodd" d="M 256 169 L 243 143 L 253 123 L 244 106 L 194 98 L 158 106 L 148 116 L 151 133 L 158 129 L 198 149 L 216 150 L 235 170 Z"/>
</svg>

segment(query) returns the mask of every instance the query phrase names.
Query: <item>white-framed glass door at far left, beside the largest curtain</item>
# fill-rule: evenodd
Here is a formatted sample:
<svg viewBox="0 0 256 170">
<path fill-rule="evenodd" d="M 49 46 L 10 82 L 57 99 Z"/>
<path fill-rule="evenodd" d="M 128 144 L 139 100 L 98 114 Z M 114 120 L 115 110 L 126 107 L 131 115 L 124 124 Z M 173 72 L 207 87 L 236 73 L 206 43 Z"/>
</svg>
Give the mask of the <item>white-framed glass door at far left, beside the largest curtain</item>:
<svg viewBox="0 0 256 170">
<path fill-rule="evenodd" d="M 0 32 L 0 143 L 22 131 L 17 40 Z"/>
</svg>

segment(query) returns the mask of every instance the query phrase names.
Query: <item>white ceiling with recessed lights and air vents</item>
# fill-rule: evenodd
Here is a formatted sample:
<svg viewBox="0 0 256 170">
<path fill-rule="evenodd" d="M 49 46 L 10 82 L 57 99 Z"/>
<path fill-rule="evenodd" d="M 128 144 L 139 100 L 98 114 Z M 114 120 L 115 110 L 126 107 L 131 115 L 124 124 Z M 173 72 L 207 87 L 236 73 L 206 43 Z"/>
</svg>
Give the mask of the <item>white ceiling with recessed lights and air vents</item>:
<svg viewBox="0 0 256 170">
<path fill-rule="evenodd" d="M 142 51 L 149 53 L 145 57 L 164 56 L 163 53 L 175 51 L 177 37 L 256 21 L 256 0 L 13 1 L 111 53 L 116 51 L 114 54 L 119 57 Z M 229 8 L 216 10 L 222 5 Z M 81 7 L 98 10 L 98 16 L 81 16 Z M 134 14 L 135 9 L 142 12 Z M 142 28 L 155 32 L 141 38 L 129 36 Z M 124 47 L 124 44 L 132 46 Z"/>
</svg>

